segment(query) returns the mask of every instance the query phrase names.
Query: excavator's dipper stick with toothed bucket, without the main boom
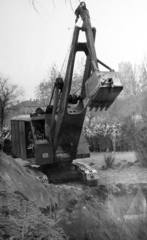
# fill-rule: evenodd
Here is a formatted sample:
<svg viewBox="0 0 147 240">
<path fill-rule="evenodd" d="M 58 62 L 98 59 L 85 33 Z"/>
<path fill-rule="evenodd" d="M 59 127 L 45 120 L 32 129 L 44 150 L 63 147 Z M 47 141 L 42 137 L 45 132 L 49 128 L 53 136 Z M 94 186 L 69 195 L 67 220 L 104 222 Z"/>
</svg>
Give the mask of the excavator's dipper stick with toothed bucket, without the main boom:
<svg viewBox="0 0 147 240">
<path fill-rule="evenodd" d="M 106 64 L 97 59 L 90 15 L 84 2 L 80 3 L 75 14 L 77 19 L 80 16 L 83 20 L 82 29 L 85 31 L 87 40 L 86 45 L 92 68 L 92 74 L 85 83 L 86 98 L 84 99 L 84 106 L 89 106 L 90 109 L 96 108 L 96 110 L 98 108 L 108 109 L 123 87 L 120 83 L 118 73 L 114 72 Z M 100 72 L 98 62 L 110 71 Z"/>
</svg>

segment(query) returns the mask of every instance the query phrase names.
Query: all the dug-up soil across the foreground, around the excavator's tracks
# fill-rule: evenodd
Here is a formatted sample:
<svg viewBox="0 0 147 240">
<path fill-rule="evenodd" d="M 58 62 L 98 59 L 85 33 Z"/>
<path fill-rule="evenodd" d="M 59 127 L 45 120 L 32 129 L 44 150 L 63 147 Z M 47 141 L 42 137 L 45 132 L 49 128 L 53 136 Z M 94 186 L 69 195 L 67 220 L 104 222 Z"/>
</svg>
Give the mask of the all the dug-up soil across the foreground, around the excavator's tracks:
<svg viewBox="0 0 147 240">
<path fill-rule="evenodd" d="M 97 158 L 85 159 L 99 174 L 98 186 L 89 188 L 48 184 L 1 152 L 0 239 L 146 240 L 147 169 L 116 159 L 102 170 Z"/>
</svg>

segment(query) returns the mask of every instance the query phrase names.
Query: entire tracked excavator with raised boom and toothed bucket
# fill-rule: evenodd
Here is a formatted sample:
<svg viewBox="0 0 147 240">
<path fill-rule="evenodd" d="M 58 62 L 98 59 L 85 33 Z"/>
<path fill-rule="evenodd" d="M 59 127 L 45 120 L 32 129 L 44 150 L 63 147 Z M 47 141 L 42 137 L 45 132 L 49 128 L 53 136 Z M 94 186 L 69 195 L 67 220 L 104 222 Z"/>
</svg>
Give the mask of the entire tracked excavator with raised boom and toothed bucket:
<svg viewBox="0 0 147 240">
<path fill-rule="evenodd" d="M 80 163 L 77 158 L 90 157 L 83 134 L 87 108 L 107 110 L 122 91 L 117 72 L 97 58 L 96 29 L 91 26 L 85 2 L 75 10 L 82 26 L 75 24 L 64 80 L 55 79 L 51 98 L 45 110 L 37 108 L 30 115 L 11 119 L 12 155 L 15 158 L 34 159 L 50 182 L 82 178 L 87 185 L 98 181 L 97 171 Z M 85 33 L 85 42 L 79 34 Z M 79 95 L 71 94 L 73 69 L 77 52 L 85 54 L 85 69 Z M 100 71 L 99 65 L 106 68 Z"/>
</svg>

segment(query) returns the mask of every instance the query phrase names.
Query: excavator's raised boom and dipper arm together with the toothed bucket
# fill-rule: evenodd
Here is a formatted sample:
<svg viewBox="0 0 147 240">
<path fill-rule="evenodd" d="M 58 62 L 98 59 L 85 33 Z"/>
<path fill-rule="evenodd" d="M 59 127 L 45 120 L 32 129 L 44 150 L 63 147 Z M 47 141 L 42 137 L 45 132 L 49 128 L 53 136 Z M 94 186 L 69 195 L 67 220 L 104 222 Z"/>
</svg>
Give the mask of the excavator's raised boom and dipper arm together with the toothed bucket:
<svg viewBox="0 0 147 240">
<path fill-rule="evenodd" d="M 81 2 L 75 11 L 76 21 L 83 20 L 82 27 L 75 26 L 71 50 L 62 89 L 56 82 L 54 106 L 51 121 L 52 143 L 56 159 L 72 161 L 76 158 L 78 143 L 86 115 L 87 107 L 106 110 L 123 89 L 118 73 L 97 59 L 95 50 L 96 30 L 91 27 L 89 11 Z M 86 42 L 79 42 L 80 31 L 85 32 Z M 75 56 L 78 51 L 86 54 L 81 94 L 70 95 Z M 106 72 L 99 71 L 99 64 L 105 66 Z M 59 95 L 60 93 L 60 95 Z"/>
</svg>

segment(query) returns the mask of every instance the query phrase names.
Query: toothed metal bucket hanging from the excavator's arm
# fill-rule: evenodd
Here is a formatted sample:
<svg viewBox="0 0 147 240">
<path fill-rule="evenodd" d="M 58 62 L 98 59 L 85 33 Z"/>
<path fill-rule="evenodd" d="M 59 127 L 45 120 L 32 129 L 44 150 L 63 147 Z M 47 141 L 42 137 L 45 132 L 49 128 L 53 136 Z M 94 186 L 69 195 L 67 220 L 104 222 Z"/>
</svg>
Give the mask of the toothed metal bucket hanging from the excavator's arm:
<svg viewBox="0 0 147 240">
<path fill-rule="evenodd" d="M 123 86 L 117 72 L 99 72 L 95 70 L 85 83 L 86 99 L 84 105 L 107 110 L 122 91 Z"/>
</svg>

